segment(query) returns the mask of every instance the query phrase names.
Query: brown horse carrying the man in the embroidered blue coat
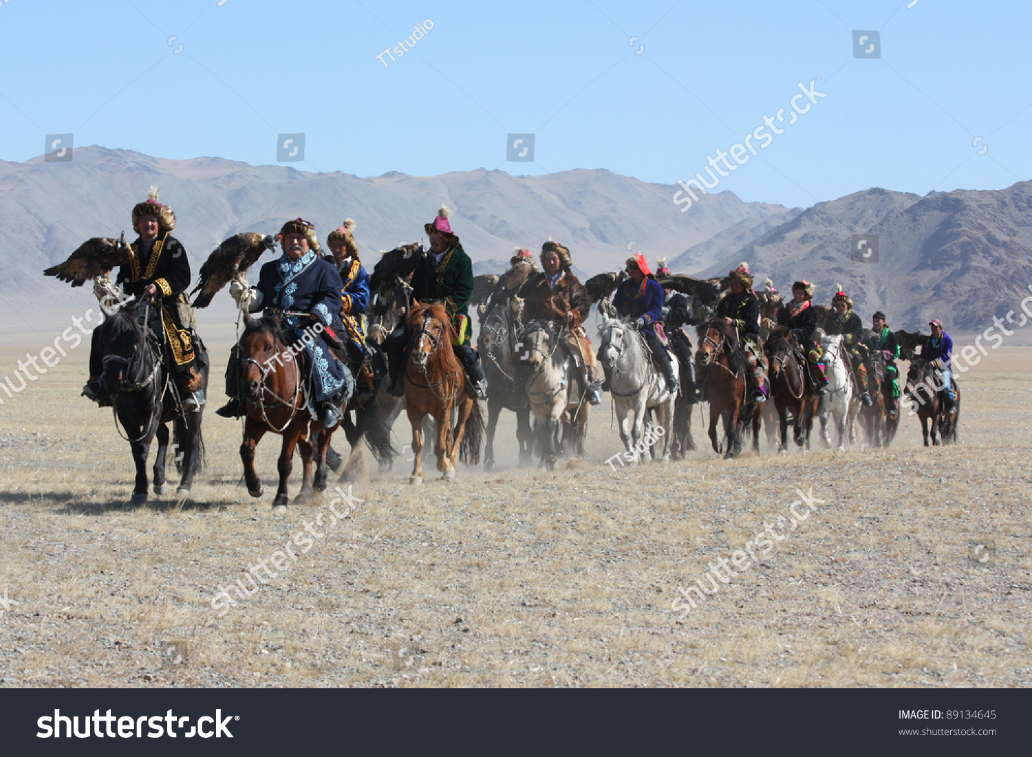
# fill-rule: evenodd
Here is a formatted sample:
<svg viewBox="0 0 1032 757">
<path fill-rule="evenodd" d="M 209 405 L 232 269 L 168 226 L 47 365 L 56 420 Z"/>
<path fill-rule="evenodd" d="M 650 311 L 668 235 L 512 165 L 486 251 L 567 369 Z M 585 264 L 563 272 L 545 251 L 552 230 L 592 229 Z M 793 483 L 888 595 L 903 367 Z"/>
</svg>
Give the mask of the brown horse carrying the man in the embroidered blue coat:
<svg viewBox="0 0 1032 757">
<path fill-rule="evenodd" d="M 312 440 L 310 427 L 318 428 L 307 408 L 303 374 L 294 355 L 287 349 L 277 318 L 252 319 L 240 335 L 239 360 L 241 390 L 247 420 L 240 460 L 248 494 L 262 495 L 261 479 L 255 472 L 255 448 L 267 432 L 283 436 L 280 460 L 280 487 L 272 500 L 273 507 L 286 506 L 287 481 L 293 468 L 294 448 L 301 453 L 304 473 L 297 500 L 312 494 Z"/>
</svg>

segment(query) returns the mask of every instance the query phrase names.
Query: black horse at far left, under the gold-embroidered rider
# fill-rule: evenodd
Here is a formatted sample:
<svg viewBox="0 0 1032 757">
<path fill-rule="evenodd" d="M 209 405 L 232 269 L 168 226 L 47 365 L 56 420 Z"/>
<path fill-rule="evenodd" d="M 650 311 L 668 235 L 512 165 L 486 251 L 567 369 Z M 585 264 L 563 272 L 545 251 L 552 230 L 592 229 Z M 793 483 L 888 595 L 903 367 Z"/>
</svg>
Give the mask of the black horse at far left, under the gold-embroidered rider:
<svg viewBox="0 0 1032 757">
<path fill-rule="evenodd" d="M 183 410 L 179 390 L 162 362 L 165 349 L 160 312 L 159 307 L 142 301 L 114 314 L 98 327 L 104 390 L 111 397 L 115 417 L 125 429 L 136 464 L 136 482 L 129 500 L 132 505 L 147 501 L 147 458 L 155 436 L 158 438 L 158 454 L 153 469 L 154 493 L 160 496 L 168 491 L 165 465 L 169 422 L 172 423 L 175 467 L 183 474 L 175 492 L 178 499 L 182 501 L 190 496 L 194 475 L 204 464 L 204 439 L 201 434 L 203 408 L 188 413 Z M 159 333 L 161 338 L 157 337 Z M 194 353 L 206 387 L 207 351 L 196 336 Z"/>
</svg>

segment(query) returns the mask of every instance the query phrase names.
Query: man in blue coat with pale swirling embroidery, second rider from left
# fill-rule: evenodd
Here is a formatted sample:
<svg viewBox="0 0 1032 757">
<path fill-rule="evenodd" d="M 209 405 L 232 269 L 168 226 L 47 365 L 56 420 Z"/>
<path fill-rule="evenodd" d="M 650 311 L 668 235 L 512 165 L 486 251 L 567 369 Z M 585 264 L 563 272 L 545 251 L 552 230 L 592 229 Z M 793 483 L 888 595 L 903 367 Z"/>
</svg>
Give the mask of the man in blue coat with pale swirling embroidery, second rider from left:
<svg viewBox="0 0 1032 757">
<path fill-rule="evenodd" d="M 250 312 L 277 310 L 304 312 L 307 316 L 281 314 L 280 323 L 291 340 L 288 347 L 298 349 L 305 367 L 312 373 L 311 409 L 323 428 L 332 428 L 342 419 L 341 407 L 351 397 L 351 371 L 343 365 L 330 347 L 340 347 L 331 330 L 333 315 L 341 307 L 344 284 L 336 266 L 319 256 L 319 239 L 315 227 L 308 221 L 288 221 L 280 229 L 283 255 L 265 263 L 258 274 L 258 284 L 248 286 L 238 276 L 229 286 L 229 294 L 240 309 Z M 322 328 L 317 331 L 314 327 Z M 308 338 L 305 338 L 305 336 Z M 299 348 L 298 345 L 302 345 Z M 226 394 L 229 402 L 216 413 L 223 418 L 244 415 L 239 397 L 239 358 L 234 345 L 226 368 Z"/>
</svg>

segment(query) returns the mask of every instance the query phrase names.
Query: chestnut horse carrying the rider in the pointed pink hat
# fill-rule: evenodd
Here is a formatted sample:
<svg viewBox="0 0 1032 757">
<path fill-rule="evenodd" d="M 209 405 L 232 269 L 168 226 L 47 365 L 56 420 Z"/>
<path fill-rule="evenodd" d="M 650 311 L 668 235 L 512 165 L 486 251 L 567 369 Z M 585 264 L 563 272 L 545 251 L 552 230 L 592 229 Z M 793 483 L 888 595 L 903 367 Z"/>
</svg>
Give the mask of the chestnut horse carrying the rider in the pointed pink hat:
<svg viewBox="0 0 1032 757">
<path fill-rule="evenodd" d="M 412 341 L 405 364 L 405 401 L 412 424 L 412 453 L 415 465 L 409 482 L 423 483 L 423 417 L 433 416 L 438 438 L 433 452 L 438 470 L 446 480 L 455 478 L 455 462 L 467 465 L 480 462 L 484 435 L 483 412 L 465 388 L 465 371 L 452 350 L 451 321 L 445 306 L 434 302 L 420 304 L 413 300 L 409 311 Z M 452 429 L 452 410 L 458 408 L 458 421 Z"/>
</svg>

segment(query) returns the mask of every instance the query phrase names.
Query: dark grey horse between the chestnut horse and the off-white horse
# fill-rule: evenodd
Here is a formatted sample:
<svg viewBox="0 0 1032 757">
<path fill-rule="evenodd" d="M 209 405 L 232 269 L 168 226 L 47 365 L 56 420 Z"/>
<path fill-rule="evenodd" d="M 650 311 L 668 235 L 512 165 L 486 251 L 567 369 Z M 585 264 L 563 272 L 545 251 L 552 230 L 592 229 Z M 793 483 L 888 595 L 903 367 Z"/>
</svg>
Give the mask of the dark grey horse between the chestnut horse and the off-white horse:
<svg viewBox="0 0 1032 757">
<path fill-rule="evenodd" d="M 516 440 L 519 445 L 519 464 L 528 465 L 534 456 L 534 432 L 530 429 L 530 407 L 526 392 L 516 378 L 513 354 L 519 333 L 519 320 L 513 308 L 520 300 L 495 304 L 480 327 L 477 350 L 480 352 L 487 375 L 487 450 L 484 469 L 494 469 L 494 432 L 503 408 L 516 414 Z"/>
</svg>

